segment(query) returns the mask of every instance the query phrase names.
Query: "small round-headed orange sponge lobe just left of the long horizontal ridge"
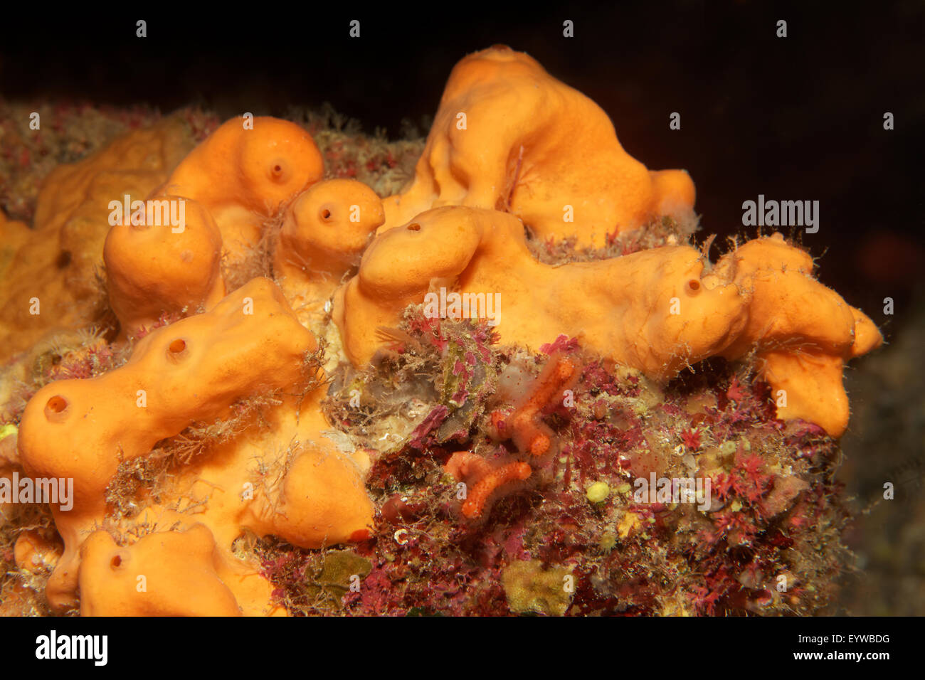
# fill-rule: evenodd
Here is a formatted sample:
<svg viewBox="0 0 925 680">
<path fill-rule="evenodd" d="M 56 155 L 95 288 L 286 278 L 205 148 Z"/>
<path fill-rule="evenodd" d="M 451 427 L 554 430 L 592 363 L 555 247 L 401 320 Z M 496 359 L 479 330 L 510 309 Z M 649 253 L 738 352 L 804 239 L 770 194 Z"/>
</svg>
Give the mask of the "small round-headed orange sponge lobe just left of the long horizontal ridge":
<svg viewBox="0 0 925 680">
<path fill-rule="evenodd" d="M 329 179 L 287 208 L 274 247 L 273 273 L 297 311 L 316 311 L 360 262 L 385 216 L 376 192 L 354 179 Z"/>
</svg>

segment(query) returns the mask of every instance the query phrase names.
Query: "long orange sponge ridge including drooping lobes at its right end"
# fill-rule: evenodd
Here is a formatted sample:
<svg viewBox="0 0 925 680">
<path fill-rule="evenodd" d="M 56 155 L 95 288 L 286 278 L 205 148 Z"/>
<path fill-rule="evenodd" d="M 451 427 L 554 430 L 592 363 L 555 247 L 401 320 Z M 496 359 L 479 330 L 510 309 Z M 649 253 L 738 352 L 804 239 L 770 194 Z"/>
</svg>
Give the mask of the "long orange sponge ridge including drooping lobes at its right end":
<svg viewBox="0 0 925 680">
<path fill-rule="evenodd" d="M 714 271 L 708 266 L 690 246 L 549 266 L 530 254 L 518 218 L 442 207 L 376 237 L 338 291 L 334 318 L 356 365 L 379 346 L 370 328 L 394 327 L 406 306 L 424 303 L 437 286 L 458 290 L 470 315 L 478 296 L 499 295 L 503 342 L 537 350 L 559 334 L 578 337 L 660 381 L 709 356 L 758 351 L 762 376 L 789 395 L 782 416 L 840 436 L 843 363 L 882 341 L 870 319 L 812 278 L 811 259 L 780 235 L 749 241 Z"/>
</svg>

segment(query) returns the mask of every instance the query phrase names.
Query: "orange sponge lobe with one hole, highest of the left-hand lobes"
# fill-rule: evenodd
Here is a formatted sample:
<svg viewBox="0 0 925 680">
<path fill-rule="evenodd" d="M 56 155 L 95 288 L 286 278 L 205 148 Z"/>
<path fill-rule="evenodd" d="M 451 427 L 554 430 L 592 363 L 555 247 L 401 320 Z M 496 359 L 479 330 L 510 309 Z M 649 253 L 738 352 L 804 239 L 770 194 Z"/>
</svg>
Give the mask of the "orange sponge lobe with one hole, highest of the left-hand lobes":
<svg viewBox="0 0 925 680">
<path fill-rule="evenodd" d="M 161 193 L 203 204 L 236 261 L 260 240 L 267 218 L 324 172 L 312 136 L 295 123 L 235 117 L 183 159 Z"/>
</svg>

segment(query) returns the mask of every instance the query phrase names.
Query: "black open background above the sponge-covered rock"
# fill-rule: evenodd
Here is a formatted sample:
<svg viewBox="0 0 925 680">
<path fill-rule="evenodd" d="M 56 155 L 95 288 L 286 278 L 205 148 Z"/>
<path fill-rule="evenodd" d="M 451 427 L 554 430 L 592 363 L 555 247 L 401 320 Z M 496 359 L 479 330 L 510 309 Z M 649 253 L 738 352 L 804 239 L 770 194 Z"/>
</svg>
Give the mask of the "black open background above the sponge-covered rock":
<svg viewBox="0 0 925 680">
<path fill-rule="evenodd" d="M 0 30 L 0 95 L 164 112 L 199 104 L 222 117 L 328 101 L 394 138 L 402 118 L 434 113 L 456 61 L 507 43 L 598 102 L 648 167 L 687 169 L 703 232 L 753 236 L 741 205 L 759 193 L 819 200 L 820 231 L 802 240 L 822 256 L 820 278 L 888 336 L 901 326 L 925 266 L 925 3 L 338 5 L 72 16 L 29 6 Z M 148 22 L 145 39 L 137 19 Z M 359 39 L 348 36 L 351 19 Z M 682 130 L 669 130 L 672 111 Z M 893 131 L 883 130 L 886 111 Z"/>
</svg>

